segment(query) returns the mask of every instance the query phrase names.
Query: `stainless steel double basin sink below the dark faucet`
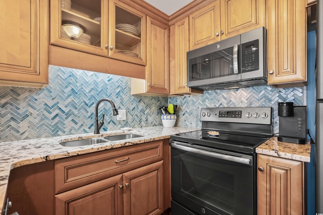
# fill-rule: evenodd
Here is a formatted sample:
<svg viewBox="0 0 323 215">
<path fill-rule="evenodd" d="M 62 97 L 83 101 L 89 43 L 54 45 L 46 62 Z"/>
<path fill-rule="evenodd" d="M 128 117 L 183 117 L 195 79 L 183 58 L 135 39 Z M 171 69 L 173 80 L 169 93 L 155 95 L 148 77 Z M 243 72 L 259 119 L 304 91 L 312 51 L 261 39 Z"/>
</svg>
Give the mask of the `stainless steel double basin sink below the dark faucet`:
<svg viewBox="0 0 323 215">
<path fill-rule="evenodd" d="M 102 142 L 132 139 L 132 138 L 141 137 L 141 136 L 142 135 L 133 134 L 133 133 L 123 133 L 123 134 L 116 134 L 116 135 L 104 136 L 104 137 L 94 137 L 89 139 L 70 140 L 70 141 L 60 142 L 60 144 L 63 147 L 81 147 L 81 146 L 87 146 L 92 144 L 101 144 Z"/>
</svg>

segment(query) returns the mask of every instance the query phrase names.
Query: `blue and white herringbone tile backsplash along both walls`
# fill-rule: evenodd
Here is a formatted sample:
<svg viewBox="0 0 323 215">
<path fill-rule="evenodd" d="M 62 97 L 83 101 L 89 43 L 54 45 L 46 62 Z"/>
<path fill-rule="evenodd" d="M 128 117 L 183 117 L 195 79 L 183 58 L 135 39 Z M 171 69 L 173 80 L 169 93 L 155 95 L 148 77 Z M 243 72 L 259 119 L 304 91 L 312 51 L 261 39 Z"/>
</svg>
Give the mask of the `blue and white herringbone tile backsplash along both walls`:
<svg viewBox="0 0 323 215">
<path fill-rule="evenodd" d="M 44 89 L 0 87 L 0 141 L 60 136 L 94 131 L 94 107 L 101 98 L 127 110 L 127 120 L 117 121 L 111 105 L 101 103 L 105 114 L 101 130 L 162 125 L 158 108 L 177 104 L 177 126 L 200 127 L 201 107 L 270 106 L 278 130 L 277 102 L 303 105 L 303 88 L 270 86 L 207 91 L 202 95 L 152 97 L 131 95 L 131 78 L 49 66 Z"/>
</svg>

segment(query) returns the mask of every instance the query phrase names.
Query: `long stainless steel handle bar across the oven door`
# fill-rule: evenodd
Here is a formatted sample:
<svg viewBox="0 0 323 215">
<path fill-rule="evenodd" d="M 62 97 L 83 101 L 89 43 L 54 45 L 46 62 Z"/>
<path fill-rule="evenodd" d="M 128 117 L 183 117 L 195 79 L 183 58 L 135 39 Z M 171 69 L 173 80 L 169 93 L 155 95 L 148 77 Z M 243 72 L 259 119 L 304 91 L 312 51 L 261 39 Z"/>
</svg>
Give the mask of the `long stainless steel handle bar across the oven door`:
<svg viewBox="0 0 323 215">
<path fill-rule="evenodd" d="M 195 153 L 198 155 L 204 155 L 204 156 L 211 157 L 211 158 L 218 158 L 221 160 L 232 161 L 232 162 L 241 163 L 241 164 L 250 164 L 250 159 L 247 159 L 247 158 L 240 158 L 240 157 L 235 157 L 235 156 L 231 156 L 231 155 L 223 155 L 223 154 L 216 153 L 216 152 L 207 152 L 204 150 L 194 149 L 191 147 L 184 147 L 184 146 L 181 146 L 178 144 L 173 144 L 173 143 L 171 143 L 171 146 L 176 149 L 179 149 L 179 150 Z"/>
</svg>

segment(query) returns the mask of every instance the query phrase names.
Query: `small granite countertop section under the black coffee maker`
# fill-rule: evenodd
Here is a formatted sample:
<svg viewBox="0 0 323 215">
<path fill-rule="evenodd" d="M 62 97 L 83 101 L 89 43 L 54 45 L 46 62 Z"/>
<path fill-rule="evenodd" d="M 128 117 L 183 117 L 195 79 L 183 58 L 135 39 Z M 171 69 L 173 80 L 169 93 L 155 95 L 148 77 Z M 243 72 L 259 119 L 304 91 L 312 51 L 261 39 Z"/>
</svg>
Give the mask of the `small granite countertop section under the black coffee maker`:
<svg viewBox="0 0 323 215">
<path fill-rule="evenodd" d="M 277 140 L 277 136 L 273 136 L 257 147 L 256 153 L 295 161 L 310 162 L 311 145 L 281 142 Z"/>
</svg>

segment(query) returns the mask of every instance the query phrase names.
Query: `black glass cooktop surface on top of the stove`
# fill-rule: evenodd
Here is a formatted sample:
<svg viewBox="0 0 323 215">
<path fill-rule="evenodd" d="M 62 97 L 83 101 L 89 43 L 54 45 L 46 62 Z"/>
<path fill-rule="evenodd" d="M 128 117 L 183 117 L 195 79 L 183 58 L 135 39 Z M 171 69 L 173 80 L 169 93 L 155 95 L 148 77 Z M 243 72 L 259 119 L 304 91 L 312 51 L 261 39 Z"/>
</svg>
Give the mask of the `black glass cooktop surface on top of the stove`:
<svg viewBox="0 0 323 215">
<path fill-rule="evenodd" d="M 219 132 L 219 135 L 210 135 L 207 131 L 202 130 L 171 135 L 171 140 L 248 154 L 255 153 L 255 148 L 261 145 L 267 139 L 269 139 L 267 136 L 228 132 Z"/>
</svg>

